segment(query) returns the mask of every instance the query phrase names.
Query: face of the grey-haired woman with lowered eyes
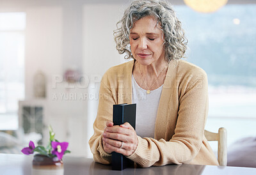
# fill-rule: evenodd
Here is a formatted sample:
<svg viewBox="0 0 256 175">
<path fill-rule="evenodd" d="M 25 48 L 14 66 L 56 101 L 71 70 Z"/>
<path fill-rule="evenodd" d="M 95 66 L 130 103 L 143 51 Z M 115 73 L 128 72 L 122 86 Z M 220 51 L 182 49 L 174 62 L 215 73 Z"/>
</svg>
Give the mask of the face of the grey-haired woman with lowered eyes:
<svg viewBox="0 0 256 175">
<path fill-rule="evenodd" d="M 163 31 L 152 16 L 143 17 L 134 22 L 130 31 L 132 56 L 141 65 L 151 65 L 164 61 Z"/>
</svg>

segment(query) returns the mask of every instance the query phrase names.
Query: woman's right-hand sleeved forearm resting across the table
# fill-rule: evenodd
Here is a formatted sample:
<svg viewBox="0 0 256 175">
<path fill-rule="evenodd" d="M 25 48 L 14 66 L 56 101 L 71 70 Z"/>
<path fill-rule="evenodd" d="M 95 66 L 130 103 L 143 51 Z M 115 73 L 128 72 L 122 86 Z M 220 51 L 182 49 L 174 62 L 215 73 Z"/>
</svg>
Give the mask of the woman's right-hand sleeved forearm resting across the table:
<svg viewBox="0 0 256 175">
<path fill-rule="evenodd" d="M 151 138 L 138 137 L 138 147 L 127 158 L 141 167 L 161 166 L 166 164 L 189 164 L 200 148 L 189 144 L 188 141 L 157 141 Z M 187 144 L 184 144 L 187 142 Z"/>
</svg>

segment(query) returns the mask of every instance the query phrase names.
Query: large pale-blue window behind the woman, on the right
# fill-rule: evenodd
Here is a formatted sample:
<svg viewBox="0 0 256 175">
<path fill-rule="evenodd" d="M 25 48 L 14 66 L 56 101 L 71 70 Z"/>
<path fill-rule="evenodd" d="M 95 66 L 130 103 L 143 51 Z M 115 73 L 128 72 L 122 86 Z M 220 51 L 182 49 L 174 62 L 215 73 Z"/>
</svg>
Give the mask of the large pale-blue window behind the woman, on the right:
<svg viewBox="0 0 256 175">
<path fill-rule="evenodd" d="M 228 144 L 255 136 L 256 4 L 227 4 L 214 13 L 174 8 L 189 40 L 187 60 L 208 75 L 205 128 L 212 132 L 227 128 Z"/>
</svg>

